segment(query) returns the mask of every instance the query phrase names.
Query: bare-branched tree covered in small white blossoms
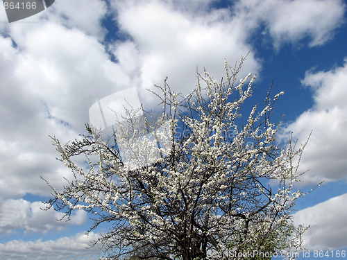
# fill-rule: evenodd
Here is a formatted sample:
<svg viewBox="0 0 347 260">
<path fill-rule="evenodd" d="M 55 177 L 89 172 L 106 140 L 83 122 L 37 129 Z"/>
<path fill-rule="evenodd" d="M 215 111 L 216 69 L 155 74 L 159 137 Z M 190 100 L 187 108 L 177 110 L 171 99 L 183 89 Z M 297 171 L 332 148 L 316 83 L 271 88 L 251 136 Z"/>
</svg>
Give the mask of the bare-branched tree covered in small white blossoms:
<svg viewBox="0 0 347 260">
<path fill-rule="evenodd" d="M 271 259 L 300 250 L 305 229 L 294 229 L 290 214 L 304 195 L 294 184 L 305 144 L 275 143 L 280 123 L 271 123 L 270 115 L 283 92 L 273 98 L 269 92 L 264 108 L 257 112 L 255 105 L 241 123 L 255 80 L 251 73 L 237 80 L 243 62 L 225 62 L 220 82 L 207 71 L 198 74 L 196 89 L 185 97 L 165 80 L 156 86 L 162 93 L 153 92 L 162 114 L 126 110 L 107 139 L 92 125 L 82 140 L 64 146 L 52 137 L 73 178 L 63 191 L 49 184 L 49 207 L 65 211 L 67 219 L 74 209 L 92 212 L 90 231 L 112 224 L 94 241 L 105 259 Z M 81 154 L 87 169 L 72 160 Z"/>
</svg>

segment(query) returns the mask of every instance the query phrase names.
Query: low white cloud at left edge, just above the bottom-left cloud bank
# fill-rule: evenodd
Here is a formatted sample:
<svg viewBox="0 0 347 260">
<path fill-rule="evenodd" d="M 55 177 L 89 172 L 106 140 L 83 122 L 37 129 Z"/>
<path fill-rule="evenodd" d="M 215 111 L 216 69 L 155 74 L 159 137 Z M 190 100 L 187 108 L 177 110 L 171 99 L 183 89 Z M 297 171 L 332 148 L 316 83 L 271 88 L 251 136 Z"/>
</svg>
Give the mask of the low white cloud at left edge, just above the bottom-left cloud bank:
<svg viewBox="0 0 347 260">
<path fill-rule="evenodd" d="M 46 234 L 49 230 L 64 230 L 71 225 L 83 225 L 87 220 L 85 211 L 76 211 L 69 221 L 57 221 L 63 213 L 53 208 L 43 211 L 46 205 L 42 202 L 28 202 L 23 199 L 6 200 L 0 203 L 0 232 L 11 234 L 17 229 L 24 232 Z"/>
</svg>

